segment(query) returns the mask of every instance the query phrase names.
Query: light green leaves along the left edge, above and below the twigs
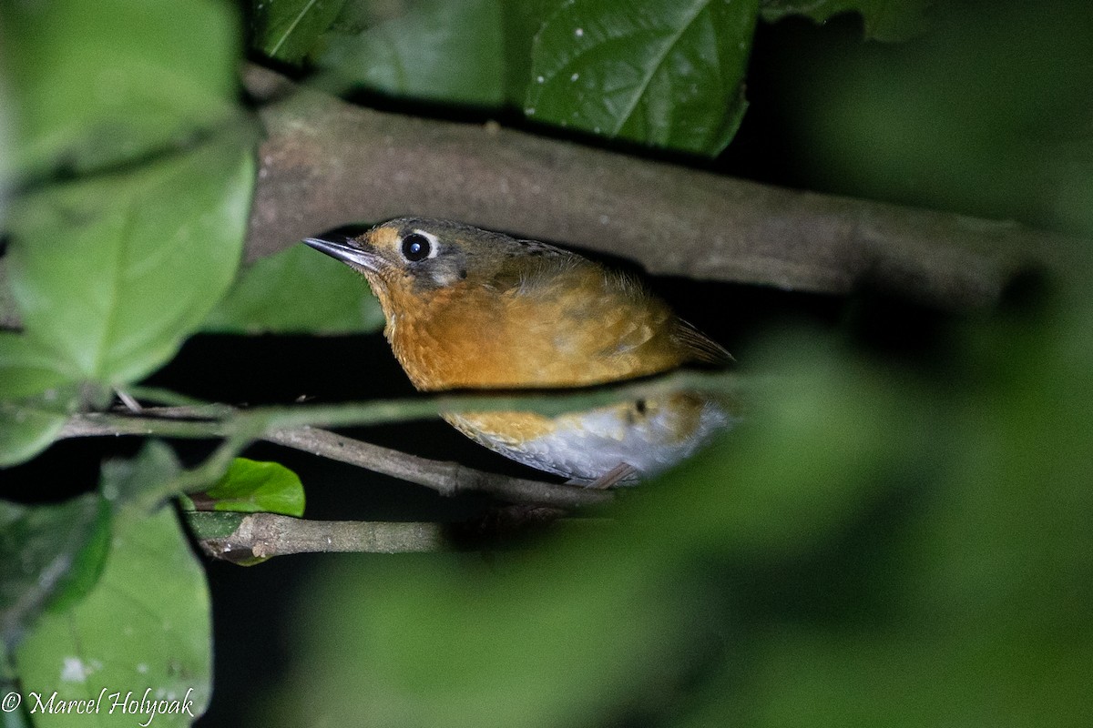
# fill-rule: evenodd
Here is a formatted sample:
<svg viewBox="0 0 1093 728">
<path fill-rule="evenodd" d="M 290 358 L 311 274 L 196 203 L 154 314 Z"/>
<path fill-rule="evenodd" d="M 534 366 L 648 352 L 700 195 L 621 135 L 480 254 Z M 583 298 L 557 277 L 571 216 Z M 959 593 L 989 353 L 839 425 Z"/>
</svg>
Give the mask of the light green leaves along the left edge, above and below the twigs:
<svg viewBox="0 0 1093 728">
<path fill-rule="evenodd" d="M 20 190 L 3 220 L 22 323 L 0 334 L 10 465 L 44 450 L 68 414 L 104 407 L 110 387 L 169 360 L 223 296 L 242 255 L 256 133 L 235 100 L 238 28 L 223 3 L 5 2 L 0 14 L 0 106 L 14 109 L 0 188 Z M 55 691 L 139 701 L 154 687 L 150 700 L 204 709 L 208 590 L 160 508 L 177 472 L 160 445 L 105 464 L 98 494 L 2 504 L 3 675 L 19 676 L 34 725 L 70 720 L 30 714 L 32 693 Z M 44 487 L 43 498 L 57 497 Z M 97 721 L 136 723 L 109 705 Z"/>
</svg>

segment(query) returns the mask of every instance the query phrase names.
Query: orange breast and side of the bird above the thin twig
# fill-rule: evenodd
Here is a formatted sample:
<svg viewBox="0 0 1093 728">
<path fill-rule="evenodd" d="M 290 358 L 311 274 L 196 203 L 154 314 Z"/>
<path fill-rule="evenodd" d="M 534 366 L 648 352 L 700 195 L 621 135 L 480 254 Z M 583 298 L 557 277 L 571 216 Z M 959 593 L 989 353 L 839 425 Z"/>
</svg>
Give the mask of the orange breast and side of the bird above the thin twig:
<svg viewBox="0 0 1093 728">
<path fill-rule="evenodd" d="M 575 268 L 504 291 L 473 284 L 390 291 L 387 336 L 418 389 L 596 384 L 678 367 L 687 353 L 659 299 Z"/>
</svg>

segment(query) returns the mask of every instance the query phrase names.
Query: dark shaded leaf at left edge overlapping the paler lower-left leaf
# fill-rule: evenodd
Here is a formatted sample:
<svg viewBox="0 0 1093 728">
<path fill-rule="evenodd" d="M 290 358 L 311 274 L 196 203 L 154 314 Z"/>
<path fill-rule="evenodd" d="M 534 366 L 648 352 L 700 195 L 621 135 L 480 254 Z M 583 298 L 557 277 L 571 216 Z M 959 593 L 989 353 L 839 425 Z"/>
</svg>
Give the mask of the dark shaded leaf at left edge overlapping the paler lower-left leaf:
<svg viewBox="0 0 1093 728">
<path fill-rule="evenodd" d="M 59 505 L 0 501 L 0 640 L 85 596 L 103 570 L 110 510 L 95 493 Z"/>
</svg>

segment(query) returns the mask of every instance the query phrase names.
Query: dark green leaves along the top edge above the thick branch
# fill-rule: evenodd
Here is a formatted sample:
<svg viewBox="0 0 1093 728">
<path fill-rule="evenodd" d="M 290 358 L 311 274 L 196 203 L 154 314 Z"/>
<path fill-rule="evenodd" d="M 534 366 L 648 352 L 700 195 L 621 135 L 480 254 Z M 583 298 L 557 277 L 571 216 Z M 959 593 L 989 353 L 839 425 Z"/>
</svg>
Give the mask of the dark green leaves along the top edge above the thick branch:
<svg viewBox="0 0 1093 728">
<path fill-rule="evenodd" d="M 338 3 L 283 4 L 284 29 L 256 28 L 256 45 L 290 62 L 309 56 L 340 84 L 516 106 L 532 121 L 708 156 L 743 117 L 759 16 L 754 1 L 423 0 L 387 15 L 383 3 L 349 0 L 324 27 L 320 16 Z M 879 37 L 896 38 L 907 24 L 894 4 L 820 2 L 808 11 L 859 10 Z M 256 2 L 255 15 L 272 15 L 274 5 Z M 796 12 L 764 8 L 772 19 Z"/>
</svg>

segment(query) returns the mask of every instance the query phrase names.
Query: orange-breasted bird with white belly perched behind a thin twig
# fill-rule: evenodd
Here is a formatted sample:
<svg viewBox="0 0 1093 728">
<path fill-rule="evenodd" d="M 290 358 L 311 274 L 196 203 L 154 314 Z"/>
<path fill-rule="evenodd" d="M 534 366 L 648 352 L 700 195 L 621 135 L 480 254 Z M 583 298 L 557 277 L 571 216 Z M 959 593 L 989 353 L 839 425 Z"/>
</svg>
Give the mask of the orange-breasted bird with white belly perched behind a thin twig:
<svg viewBox="0 0 1093 728">
<path fill-rule="evenodd" d="M 732 360 L 636 276 L 545 242 L 424 217 L 304 242 L 367 279 L 422 392 L 590 386 Z M 694 392 L 553 417 L 442 417 L 490 450 L 598 488 L 656 475 L 736 421 Z"/>
</svg>

